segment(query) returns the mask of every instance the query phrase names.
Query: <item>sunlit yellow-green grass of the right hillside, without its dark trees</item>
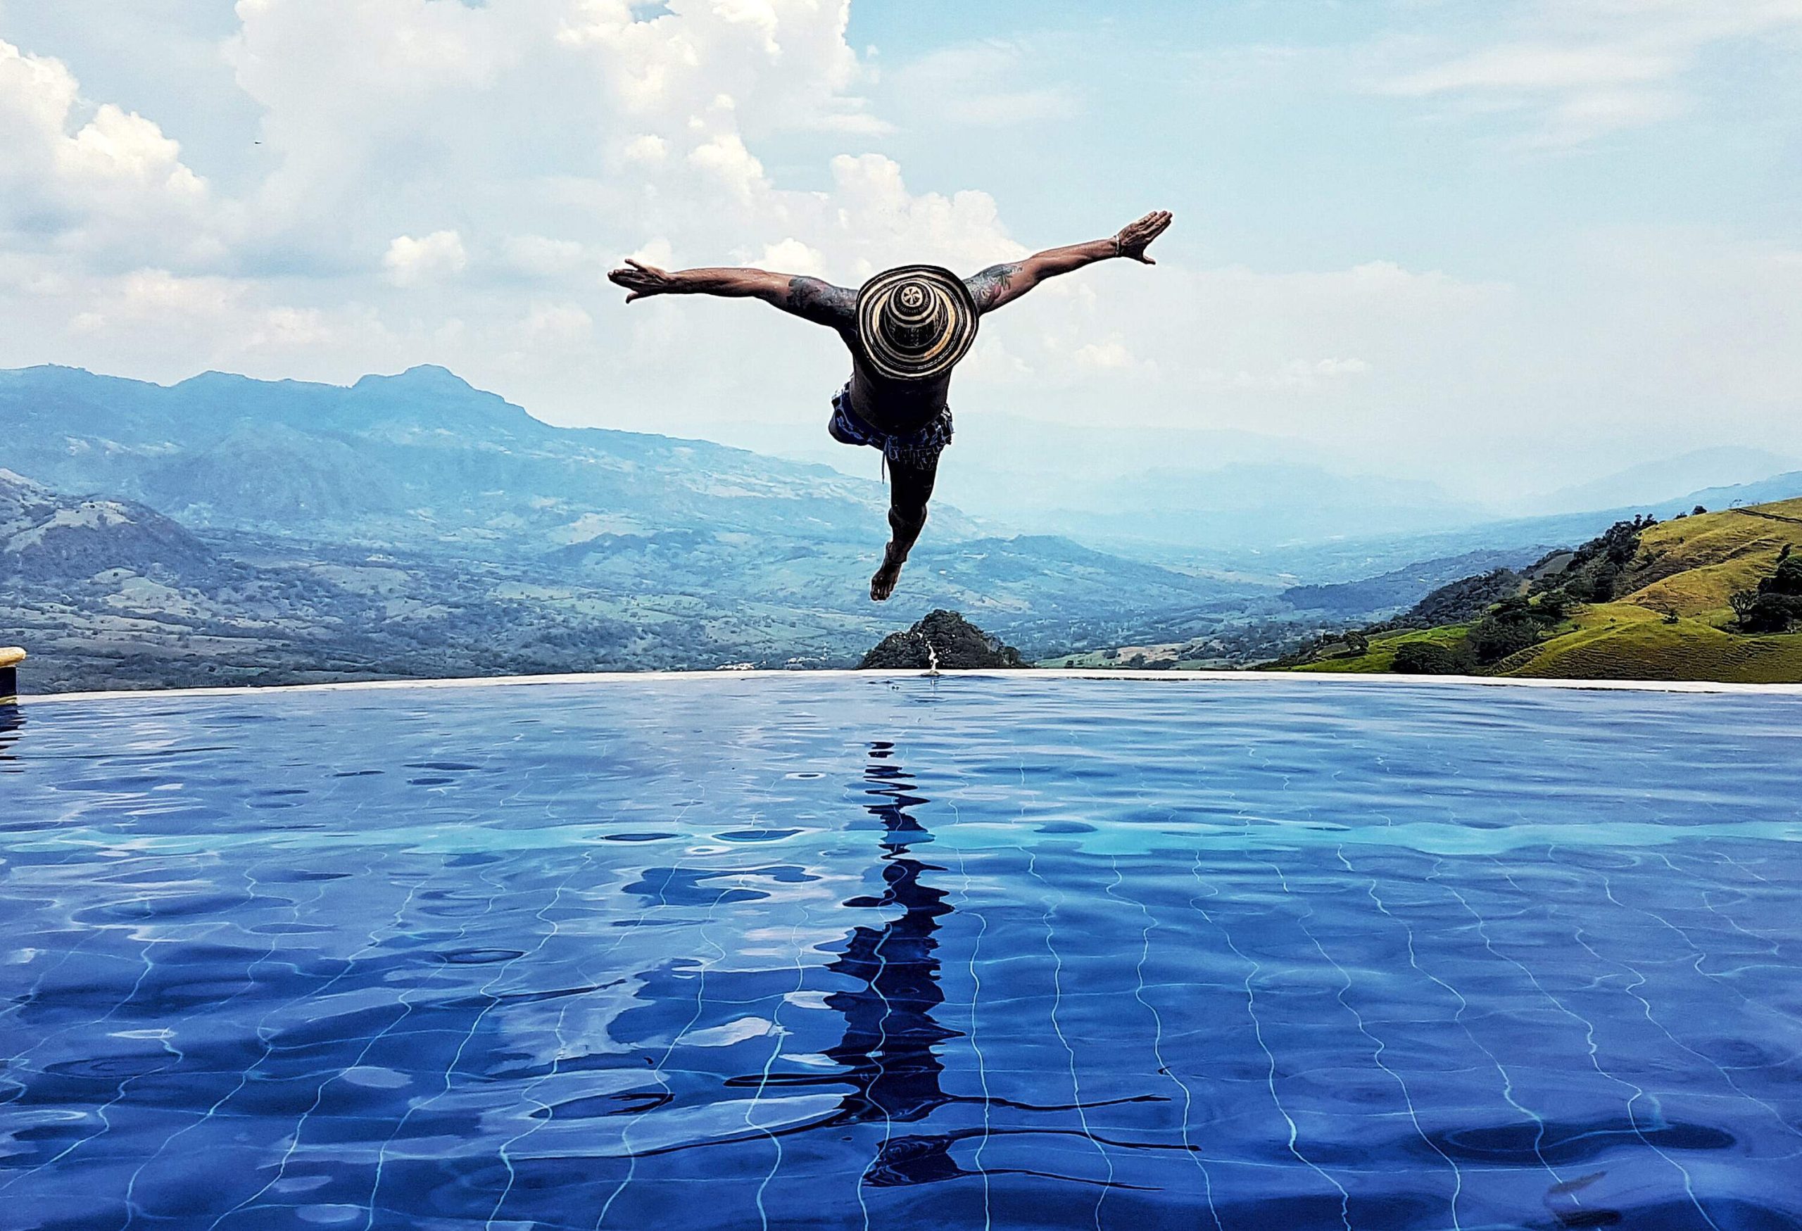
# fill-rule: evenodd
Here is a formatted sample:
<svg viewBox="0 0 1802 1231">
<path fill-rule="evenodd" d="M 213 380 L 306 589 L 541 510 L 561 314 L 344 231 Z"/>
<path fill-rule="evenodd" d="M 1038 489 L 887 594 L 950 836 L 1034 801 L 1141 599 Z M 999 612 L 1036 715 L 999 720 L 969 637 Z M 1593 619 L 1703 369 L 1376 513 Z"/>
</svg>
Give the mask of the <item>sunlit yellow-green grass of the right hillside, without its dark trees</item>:
<svg viewBox="0 0 1802 1231">
<path fill-rule="evenodd" d="M 1665 521 L 1640 537 L 1640 555 L 1615 602 L 1584 607 L 1503 676 L 1566 679 L 1802 681 L 1802 633 L 1725 631 L 1728 597 L 1768 577 L 1784 544 L 1802 552 L 1802 499 Z M 1676 624 L 1665 615 L 1676 613 Z M 1389 670 L 1404 642 L 1456 642 L 1465 625 L 1373 636 L 1370 652 L 1299 670 Z"/>
</svg>

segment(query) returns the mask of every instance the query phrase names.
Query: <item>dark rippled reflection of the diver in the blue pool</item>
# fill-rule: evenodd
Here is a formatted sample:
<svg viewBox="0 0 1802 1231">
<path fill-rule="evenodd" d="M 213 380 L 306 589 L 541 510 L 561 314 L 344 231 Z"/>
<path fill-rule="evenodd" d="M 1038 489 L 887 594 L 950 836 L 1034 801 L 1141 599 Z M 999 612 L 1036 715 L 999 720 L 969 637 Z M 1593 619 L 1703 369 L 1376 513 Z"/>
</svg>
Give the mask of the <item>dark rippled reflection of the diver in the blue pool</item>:
<svg viewBox="0 0 1802 1231">
<path fill-rule="evenodd" d="M 827 1116 L 777 1130 L 773 1135 L 834 1128 L 842 1125 L 883 1123 L 905 1125 L 924 1119 L 946 1103 L 977 1107 L 1007 1107 L 1025 1112 L 1065 1112 L 1076 1107 L 1112 1107 L 1117 1103 L 1160 1101 L 1155 1096 L 1101 1099 L 1090 1103 L 1018 1103 L 1004 1098 L 969 1098 L 948 1094 L 939 1078 L 944 1062 L 937 1047 L 959 1031 L 946 1029 L 932 1013 L 944 1004 L 939 988 L 941 919 L 951 914 L 944 890 L 921 881 L 923 872 L 942 872 L 935 863 L 914 858 L 914 847 L 932 842 L 932 833 L 908 811 L 930 804 L 906 770 L 894 762 L 890 741 L 870 743 L 869 764 L 863 771 L 865 795 L 879 802 L 865 804 L 865 811 L 881 822 L 883 892 L 878 898 L 845 899 L 854 910 L 901 907 L 901 916 L 879 926 L 858 926 L 845 943 L 845 952 L 827 970 L 854 979 L 860 986 L 834 991 L 825 1004 L 845 1017 L 845 1035 L 827 1056 L 842 1065 L 840 1072 L 771 1072 L 730 1078 L 726 1085 L 845 1085 L 852 1089 Z M 890 1135 L 870 1163 L 863 1179 L 867 1184 L 926 1184 L 960 1175 L 975 1175 L 951 1159 L 951 1146 L 966 1137 L 1051 1132 L 1058 1135 L 1085 1135 L 1069 1128 L 964 1128 L 946 1134 Z M 1132 1144 L 1132 1143 L 1117 1143 Z M 991 1175 L 1006 1170 L 987 1168 Z M 1024 1172 L 1043 1175 L 1040 1172 Z M 1078 1179 L 1078 1177 L 1058 1177 Z M 1106 1184 L 1126 1188 L 1124 1184 Z"/>
</svg>

